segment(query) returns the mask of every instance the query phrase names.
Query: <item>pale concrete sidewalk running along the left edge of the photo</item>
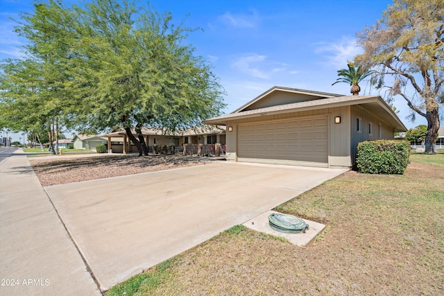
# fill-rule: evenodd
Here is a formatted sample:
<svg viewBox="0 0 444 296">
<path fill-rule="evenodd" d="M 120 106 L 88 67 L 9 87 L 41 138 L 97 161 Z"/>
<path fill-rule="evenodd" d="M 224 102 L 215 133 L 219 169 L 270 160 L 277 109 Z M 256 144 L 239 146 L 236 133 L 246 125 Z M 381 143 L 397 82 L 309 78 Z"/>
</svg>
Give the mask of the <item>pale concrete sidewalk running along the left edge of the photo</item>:
<svg viewBox="0 0 444 296">
<path fill-rule="evenodd" d="M 101 295 L 26 156 L 0 162 L 0 279 L 0 295 Z"/>
</svg>

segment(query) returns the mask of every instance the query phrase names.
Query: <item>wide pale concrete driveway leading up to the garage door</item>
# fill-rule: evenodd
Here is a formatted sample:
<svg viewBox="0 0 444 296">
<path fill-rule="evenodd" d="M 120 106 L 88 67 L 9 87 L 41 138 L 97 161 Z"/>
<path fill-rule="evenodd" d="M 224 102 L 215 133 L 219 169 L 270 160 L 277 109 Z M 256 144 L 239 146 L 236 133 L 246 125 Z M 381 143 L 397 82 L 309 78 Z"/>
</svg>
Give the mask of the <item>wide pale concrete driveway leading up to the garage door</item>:
<svg viewBox="0 0 444 296">
<path fill-rule="evenodd" d="M 108 290 L 344 171 L 214 162 L 44 189 Z"/>
</svg>

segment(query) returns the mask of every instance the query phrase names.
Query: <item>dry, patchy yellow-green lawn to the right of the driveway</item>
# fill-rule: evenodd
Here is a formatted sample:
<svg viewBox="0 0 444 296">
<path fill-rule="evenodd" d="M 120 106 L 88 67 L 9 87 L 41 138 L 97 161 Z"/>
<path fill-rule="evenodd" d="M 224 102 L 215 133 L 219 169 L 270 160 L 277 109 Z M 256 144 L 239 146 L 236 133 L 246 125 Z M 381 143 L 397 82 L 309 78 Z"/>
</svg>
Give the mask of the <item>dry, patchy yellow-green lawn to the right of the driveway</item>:
<svg viewBox="0 0 444 296">
<path fill-rule="evenodd" d="M 278 207 L 327 225 L 306 247 L 236 226 L 106 295 L 442 295 L 444 155 L 411 159 L 404 175 L 350 171 Z"/>
</svg>

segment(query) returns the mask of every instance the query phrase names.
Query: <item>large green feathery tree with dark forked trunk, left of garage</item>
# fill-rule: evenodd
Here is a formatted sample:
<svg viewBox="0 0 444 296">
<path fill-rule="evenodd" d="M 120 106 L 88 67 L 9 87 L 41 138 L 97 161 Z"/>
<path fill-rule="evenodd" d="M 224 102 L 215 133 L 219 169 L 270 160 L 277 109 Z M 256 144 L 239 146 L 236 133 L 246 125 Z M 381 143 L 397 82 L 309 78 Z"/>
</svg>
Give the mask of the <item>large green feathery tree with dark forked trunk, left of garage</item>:
<svg viewBox="0 0 444 296">
<path fill-rule="evenodd" d="M 94 0 L 70 13 L 67 67 L 83 106 L 72 113 L 78 125 L 89 130 L 121 126 L 139 155 L 147 155 L 144 125 L 167 133 L 220 114 L 223 89 L 186 42 L 194 30 L 175 26 L 171 13 L 115 0 Z"/>
</svg>

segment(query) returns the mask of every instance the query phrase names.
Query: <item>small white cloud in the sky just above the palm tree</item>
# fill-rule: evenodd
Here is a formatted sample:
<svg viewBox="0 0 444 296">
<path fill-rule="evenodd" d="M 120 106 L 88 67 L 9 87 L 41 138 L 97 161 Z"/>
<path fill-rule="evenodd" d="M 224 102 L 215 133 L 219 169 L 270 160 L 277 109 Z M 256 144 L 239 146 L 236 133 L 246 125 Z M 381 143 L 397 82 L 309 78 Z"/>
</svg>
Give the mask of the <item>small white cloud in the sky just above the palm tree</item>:
<svg viewBox="0 0 444 296">
<path fill-rule="evenodd" d="M 323 55 L 327 60 L 325 63 L 338 69 L 347 67 L 347 62 L 352 61 L 355 55 L 362 52 L 355 38 L 343 37 L 339 42 L 321 42 L 317 45 L 315 53 Z"/>
</svg>

